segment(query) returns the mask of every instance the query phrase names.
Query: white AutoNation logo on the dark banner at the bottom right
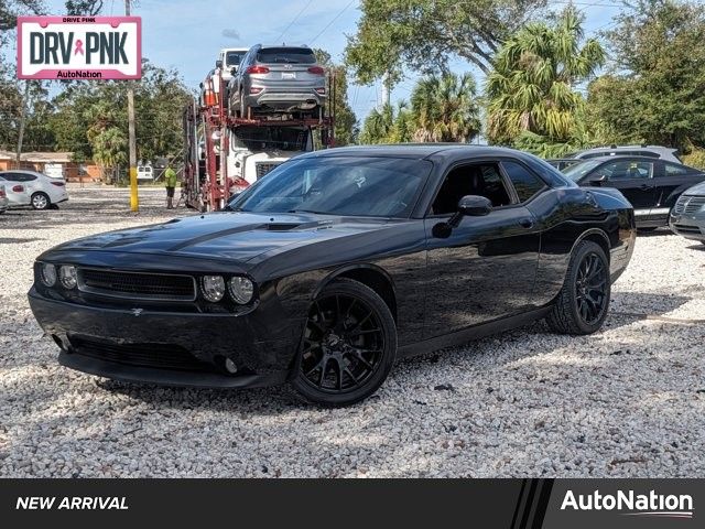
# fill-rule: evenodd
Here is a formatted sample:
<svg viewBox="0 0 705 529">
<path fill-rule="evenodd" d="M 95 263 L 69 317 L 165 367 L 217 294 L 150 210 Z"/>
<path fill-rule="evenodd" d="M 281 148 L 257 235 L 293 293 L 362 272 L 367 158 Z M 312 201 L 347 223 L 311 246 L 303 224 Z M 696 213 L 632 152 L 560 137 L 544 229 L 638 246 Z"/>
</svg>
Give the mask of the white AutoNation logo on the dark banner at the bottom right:
<svg viewBox="0 0 705 529">
<path fill-rule="evenodd" d="M 578 494 L 567 490 L 561 510 L 618 510 L 625 516 L 652 516 L 659 518 L 693 518 L 693 497 L 690 494 L 664 495 L 650 490 L 617 490 L 616 494 Z"/>
</svg>

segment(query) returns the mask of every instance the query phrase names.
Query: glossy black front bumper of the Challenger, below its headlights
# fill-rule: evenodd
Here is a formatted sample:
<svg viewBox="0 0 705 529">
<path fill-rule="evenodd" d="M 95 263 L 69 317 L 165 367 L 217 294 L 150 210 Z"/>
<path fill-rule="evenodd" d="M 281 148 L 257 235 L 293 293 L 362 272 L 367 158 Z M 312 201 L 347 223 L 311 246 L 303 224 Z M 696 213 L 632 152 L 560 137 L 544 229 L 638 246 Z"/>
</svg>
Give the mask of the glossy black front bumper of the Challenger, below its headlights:
<svg viewBox="0 0 705 529">
<path fill-rule="evenodd" d="M 62 365 L 118 380 L 241 388 L 288 379 L 303 322 L 246 315 L 106 309 L 29 293 Z M 225 369 L 226 358 L 237 366 Z"/>
</svg>

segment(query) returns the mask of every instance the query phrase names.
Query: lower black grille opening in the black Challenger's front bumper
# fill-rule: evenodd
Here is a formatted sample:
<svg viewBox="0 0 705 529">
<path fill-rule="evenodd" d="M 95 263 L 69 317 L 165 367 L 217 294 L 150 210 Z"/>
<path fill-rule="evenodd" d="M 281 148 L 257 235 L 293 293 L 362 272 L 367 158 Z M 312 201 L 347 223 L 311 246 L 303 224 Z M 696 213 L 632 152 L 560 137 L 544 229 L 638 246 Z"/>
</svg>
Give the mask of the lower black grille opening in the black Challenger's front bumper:
<svg viewBox="0 0 705 529">
<path fill-rule="evenodd" d="M 74 354 L 126 366 L 152 367 L 180 371 L 216 371 L 183 347 L 169 344 L 116 344 L 72 336 Z"/>
</svg>

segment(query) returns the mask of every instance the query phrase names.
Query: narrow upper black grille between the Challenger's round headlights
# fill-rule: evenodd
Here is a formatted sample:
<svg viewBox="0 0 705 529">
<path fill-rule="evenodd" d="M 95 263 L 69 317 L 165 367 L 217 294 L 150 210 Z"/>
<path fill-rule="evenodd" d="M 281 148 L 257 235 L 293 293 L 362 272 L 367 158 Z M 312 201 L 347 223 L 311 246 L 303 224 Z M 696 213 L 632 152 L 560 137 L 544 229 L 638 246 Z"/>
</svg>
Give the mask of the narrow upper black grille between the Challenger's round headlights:
<svg viewBox="0 0 705 529">
<path fill-rule="evenodd" d="M 79 289 L 93 294 L 147 300 L 196 299 L 194 279 L 191 276 L 80 269 L 78 279 Z"/>
</svg>

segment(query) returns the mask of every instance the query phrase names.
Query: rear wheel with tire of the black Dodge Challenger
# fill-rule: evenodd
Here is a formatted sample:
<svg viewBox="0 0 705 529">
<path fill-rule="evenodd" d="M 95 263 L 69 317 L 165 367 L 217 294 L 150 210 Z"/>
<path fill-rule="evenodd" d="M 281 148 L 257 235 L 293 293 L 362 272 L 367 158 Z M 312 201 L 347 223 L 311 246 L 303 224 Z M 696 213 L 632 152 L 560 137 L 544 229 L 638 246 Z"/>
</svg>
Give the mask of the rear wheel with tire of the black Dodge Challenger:
<svg viewBox="0 0 705 529">
<path fill-rule="evenodd" d="M 571 256 L 563 289 L 546 322 L 556 333 L 592 334 L 607 317 L 610 293 L 609 260 L 605 250 L 590 240 L 583 240 Z"/>
</svg>

